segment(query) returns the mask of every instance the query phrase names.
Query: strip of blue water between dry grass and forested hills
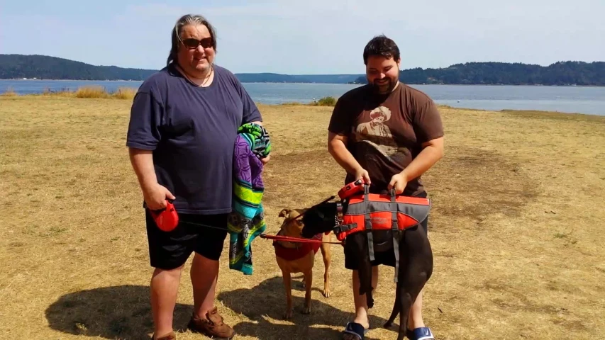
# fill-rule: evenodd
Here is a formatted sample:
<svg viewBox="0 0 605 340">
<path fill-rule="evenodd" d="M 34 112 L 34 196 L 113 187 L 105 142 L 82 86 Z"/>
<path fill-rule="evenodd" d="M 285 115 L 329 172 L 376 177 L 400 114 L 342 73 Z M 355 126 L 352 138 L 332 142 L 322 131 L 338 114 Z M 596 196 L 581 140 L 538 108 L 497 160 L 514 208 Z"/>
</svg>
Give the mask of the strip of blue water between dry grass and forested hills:
<svg viewBox="0 0 605 340">
<path fill-rule="evenodd" d="M 13 89 L 17 94 L 51 91 L 74 91 L 80 86 L 104 86 L 113 92 L 120 86 L 138 88 L 141 81 L 63 81 L 0 80 L 0 93 Z M 324 96 L 338 97 L 359 85 L 349 84 L 269 84 L 244 83 L 257 103 L 309 103 Z M 605 87 L 589 86 L 482 86 L 482 85 L 411 85 L 436 103 L 457 108 L 484 110 L 538 110 L 564 113 L 605 115 Z"/>
</svg>

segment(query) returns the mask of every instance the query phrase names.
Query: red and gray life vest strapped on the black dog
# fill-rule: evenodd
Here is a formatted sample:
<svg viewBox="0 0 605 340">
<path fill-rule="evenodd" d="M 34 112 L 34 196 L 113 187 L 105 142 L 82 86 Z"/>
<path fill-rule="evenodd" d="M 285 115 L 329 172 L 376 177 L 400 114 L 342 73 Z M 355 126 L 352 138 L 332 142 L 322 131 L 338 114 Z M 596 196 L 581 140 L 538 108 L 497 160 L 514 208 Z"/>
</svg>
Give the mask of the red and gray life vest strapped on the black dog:
<svg viewBox="0 0 605 340">
<path fill-rule="evenodd" d="M 399 232 L 420 225 L 428 217 L 431 200 L 410 196 L 396 196 L 370 193 L 370 187 L 363 184 L 363 193 L 352 193 L 348 198 L 347 212 L 342 215 L 338 209 L 338 220 L 334 227 L 339 241 L 355 232 L 367 232 L 367 246 L 370 261 L 374 261 L 374 237 L 372 230 L 392 230 L 395 251 L 395 282 L 399 271 Z"/>
</svg>

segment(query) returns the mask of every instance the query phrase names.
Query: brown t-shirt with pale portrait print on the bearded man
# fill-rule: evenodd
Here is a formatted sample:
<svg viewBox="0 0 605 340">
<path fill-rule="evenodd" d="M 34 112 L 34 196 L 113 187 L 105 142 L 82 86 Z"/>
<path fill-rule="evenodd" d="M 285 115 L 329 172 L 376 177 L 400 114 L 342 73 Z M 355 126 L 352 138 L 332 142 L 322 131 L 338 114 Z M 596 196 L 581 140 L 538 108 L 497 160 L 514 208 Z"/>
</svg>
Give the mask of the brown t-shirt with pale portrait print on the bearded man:
<svg viewBox="0 0 605 340">
<path fill-rule="evenodd" d="M 366 169 L 372 192 L 385 193 L 394 174 L 399 174 L 422 150 L 422 143 L 443 136 L 435 103 L 410 86 L 399 86 L 388 95 L 377 95 L 360 86 L 340 97 L 328 130 L 348 138 L 347 149 Z M 345 183 L 354 181 L 347 174 Z M 424 193 L 421 178 L 411 179 L 404 195 Z"/>
</svg>

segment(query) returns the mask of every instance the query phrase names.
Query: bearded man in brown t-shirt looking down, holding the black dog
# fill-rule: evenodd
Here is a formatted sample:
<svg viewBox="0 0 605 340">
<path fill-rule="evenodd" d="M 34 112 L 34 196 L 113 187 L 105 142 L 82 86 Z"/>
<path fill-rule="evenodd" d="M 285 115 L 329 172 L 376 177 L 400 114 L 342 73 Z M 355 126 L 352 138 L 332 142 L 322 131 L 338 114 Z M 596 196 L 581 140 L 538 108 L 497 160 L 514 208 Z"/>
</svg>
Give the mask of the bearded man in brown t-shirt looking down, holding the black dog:
<svg viewBox="0 0 605 340">
<path fill-rule="evenodd" d="M 399 82 L 399 48 L 384 35 L 365 46 L 363 61 L 368 84 L 348 91 L 335 105 L 328 126 L 328 150 L 346 171 L 345 183 L 363 179 L 371 193 L 427 197 L 421 175 L 443 157 L 443 125 L 435 103 L 426 94 Z M 428 230 L 428 217 L 421 223 Z M 353 271 L 355 319 L 343 339 L 363 339 L 370 328 L 355 249 L 345 245 L 345 268 Z M 372 288 L 380 264 L 395 266 L 393 251 L 376 252 L 372 261 Z M 411 340 L 433 339 L 422 319 L 422 293 L 411 308 Z"/>
</svg>

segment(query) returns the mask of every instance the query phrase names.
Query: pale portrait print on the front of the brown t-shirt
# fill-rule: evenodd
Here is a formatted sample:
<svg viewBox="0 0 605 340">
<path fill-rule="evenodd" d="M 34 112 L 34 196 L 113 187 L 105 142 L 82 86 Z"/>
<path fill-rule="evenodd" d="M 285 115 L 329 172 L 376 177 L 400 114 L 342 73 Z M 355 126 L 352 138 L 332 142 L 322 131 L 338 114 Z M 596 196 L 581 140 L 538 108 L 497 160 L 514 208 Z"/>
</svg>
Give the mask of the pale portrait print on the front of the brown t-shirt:
<svg viewBox="0 0 605 340">
<path fill-rule="evenodd" d="M 391 119 L 391 110 L 386 106 L 378 106 L 370 111 L 370 121 L 360 123 L 355 128 L 356 139 L 359 142 L 365 142 L 385 157 L 392 157 L 398 152 L 397 144 L 391 133 L 391 129 L 387 126 L 387 122 Z"/>
</svg>

